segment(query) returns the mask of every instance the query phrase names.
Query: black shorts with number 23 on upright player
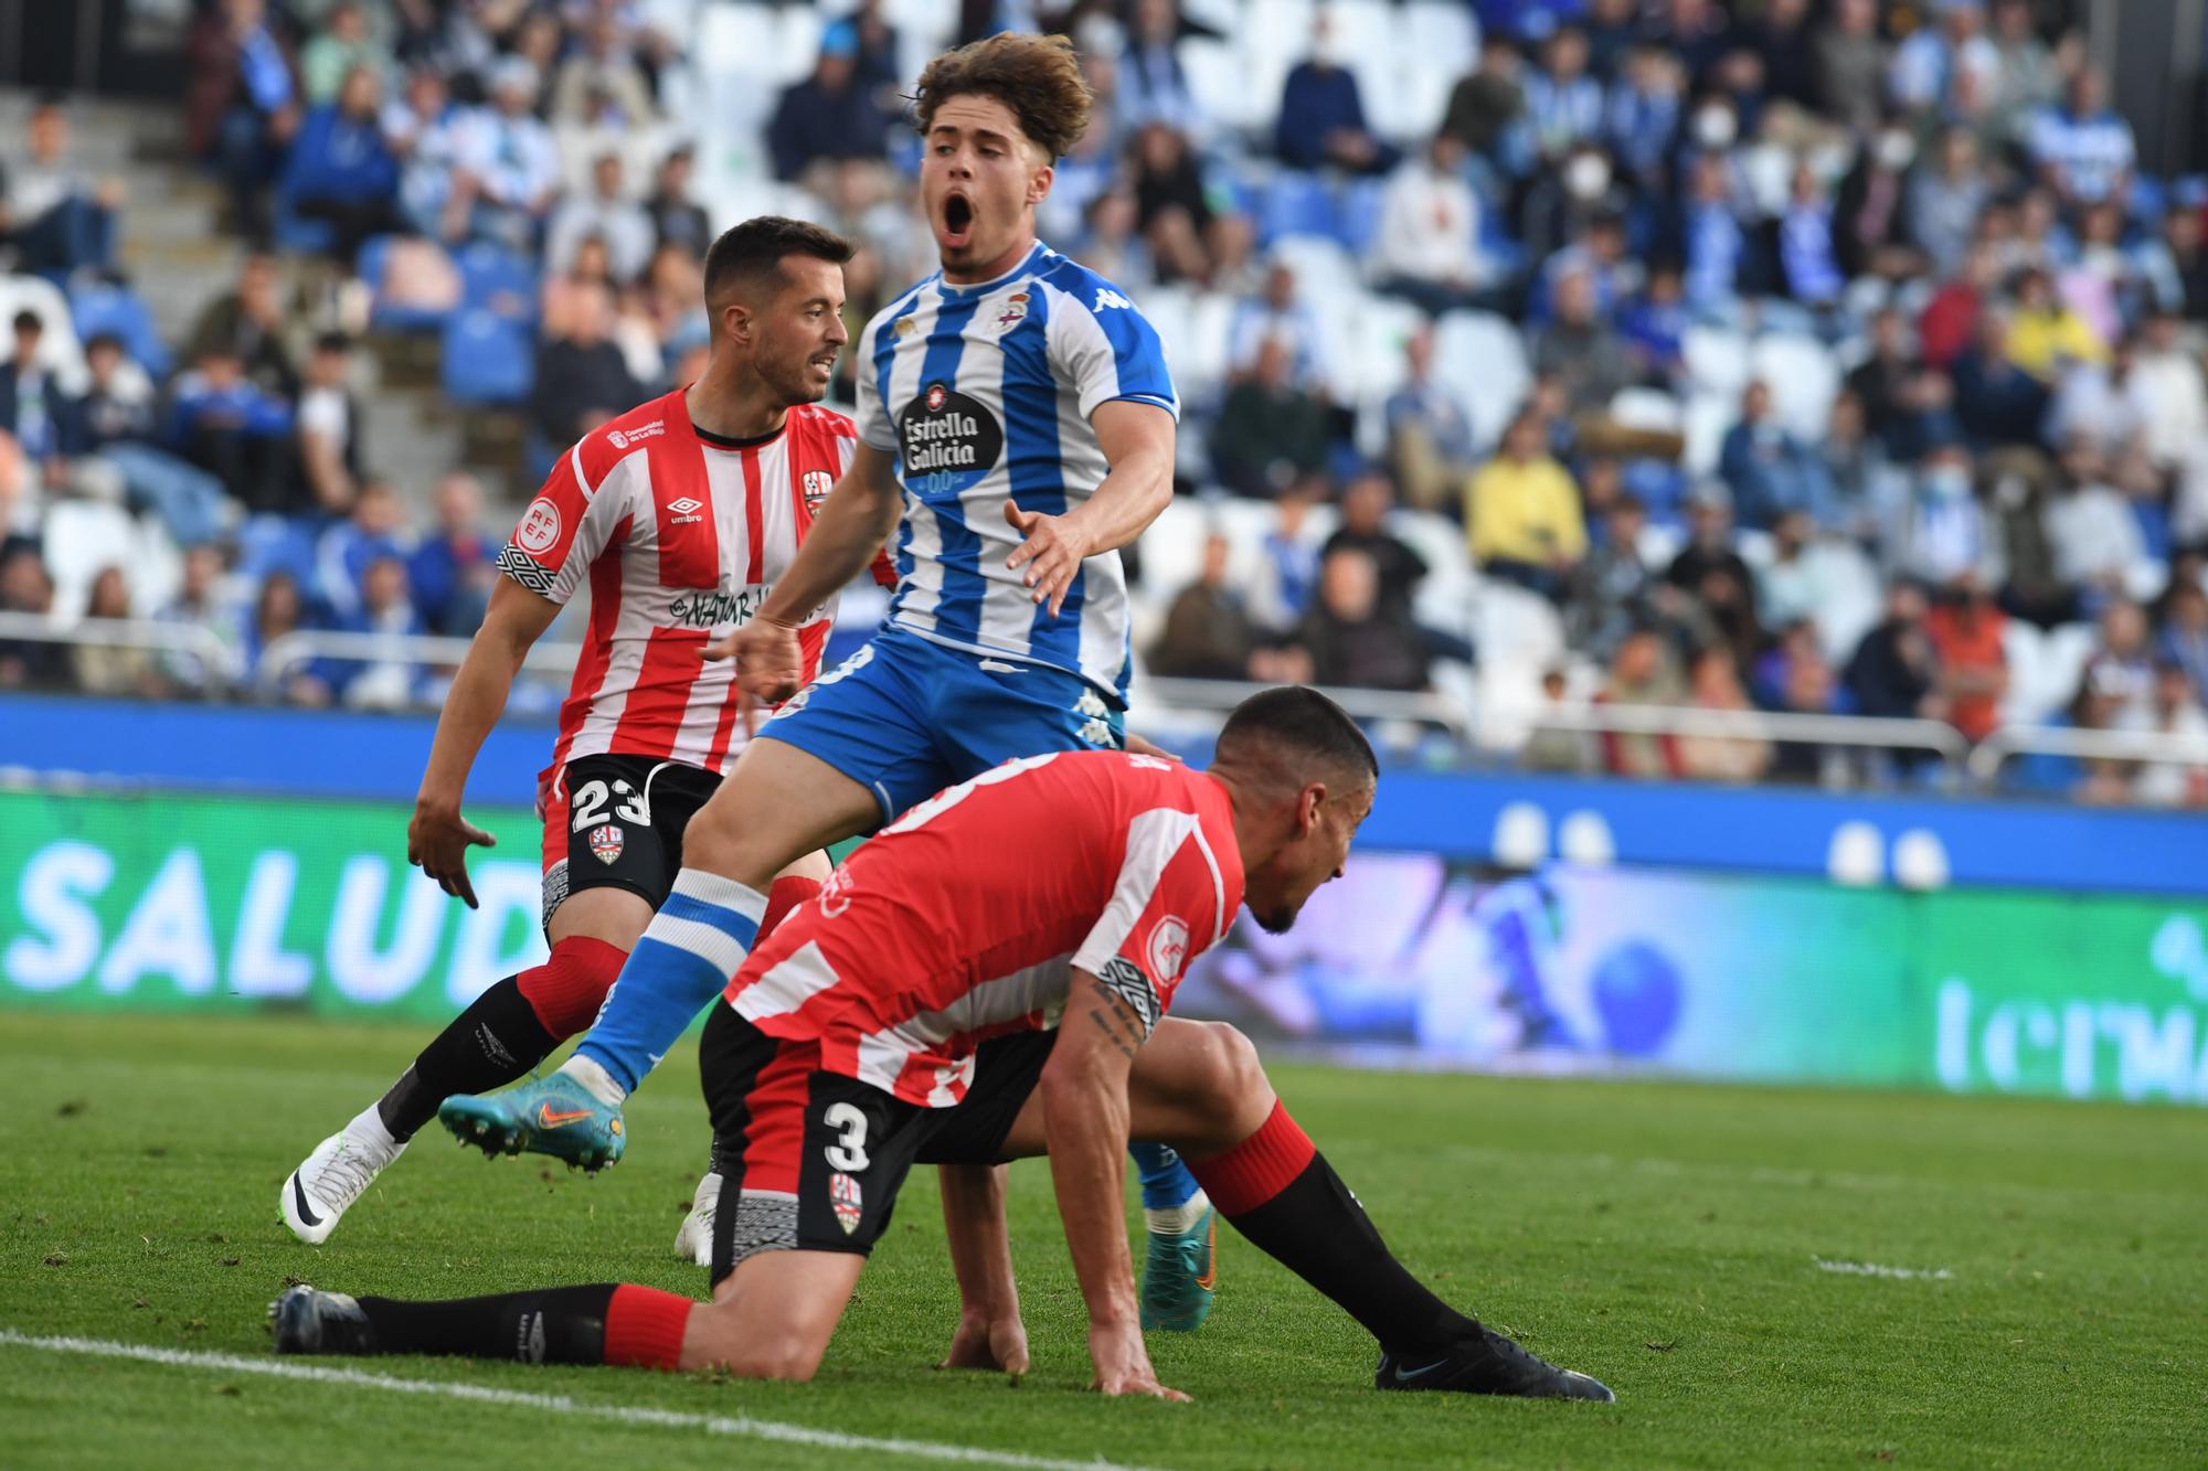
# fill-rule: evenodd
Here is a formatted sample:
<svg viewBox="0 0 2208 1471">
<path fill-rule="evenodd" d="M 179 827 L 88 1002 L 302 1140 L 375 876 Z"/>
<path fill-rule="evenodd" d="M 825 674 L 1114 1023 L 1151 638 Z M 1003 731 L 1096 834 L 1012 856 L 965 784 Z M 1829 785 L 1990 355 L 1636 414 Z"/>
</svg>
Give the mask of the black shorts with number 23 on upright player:
<svg viewBox="0 0 2208 1471">
<path fill-rule="evenodd" d="M 567 895 L 625 888 L 658 910 L 682 870 L 682 828 L 720 775 L 651 755 L 578 755 L 545 802 L 543 923 Z"/>
</svg>

